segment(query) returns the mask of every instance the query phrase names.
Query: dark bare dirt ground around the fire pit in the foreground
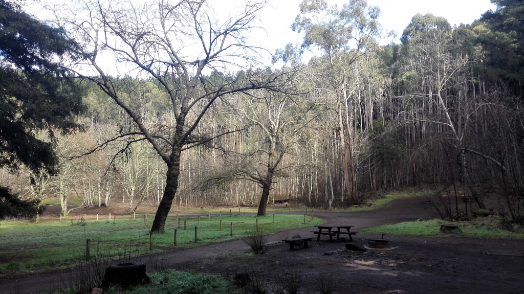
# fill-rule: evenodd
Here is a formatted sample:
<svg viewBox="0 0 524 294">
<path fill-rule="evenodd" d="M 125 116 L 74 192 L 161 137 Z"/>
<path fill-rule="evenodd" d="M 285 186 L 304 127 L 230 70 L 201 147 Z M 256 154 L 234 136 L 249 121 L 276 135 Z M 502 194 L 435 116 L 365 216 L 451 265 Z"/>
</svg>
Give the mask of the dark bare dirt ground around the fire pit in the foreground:
<svg viewBox="0 0 524 294">
<path fill-rule="evenodd" d="M 359 234 L 351 243 L 364 247 L 374 238 Z M 299 293 L 524 293 L 524 258 L 485 253 L 489 249 L 522 253 L 522 242 L 387 235 L 385 239 L 393 249 L 356 252 L 346 250 L 348 242 L 313 241 L 308 248 L 290 251 L 287 244 L 276 243 L 266 254 L 203 258 L 179 269 L 232 280 L 247 273 L 267 280 L 268 293 L 285 293 L 281 285 L 297 269 L 302 276 Z"/>
</svg>

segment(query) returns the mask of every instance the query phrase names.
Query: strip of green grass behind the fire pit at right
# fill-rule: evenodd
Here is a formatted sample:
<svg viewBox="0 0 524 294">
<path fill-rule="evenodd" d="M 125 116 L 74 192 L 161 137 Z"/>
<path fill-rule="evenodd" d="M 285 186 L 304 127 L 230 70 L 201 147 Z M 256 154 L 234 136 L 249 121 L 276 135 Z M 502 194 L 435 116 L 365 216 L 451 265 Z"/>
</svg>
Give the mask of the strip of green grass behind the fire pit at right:
<svg viewBox="0 0 524 294">
<path fill-rule="evenodd" d="M 449 222 L 442 220 L 409 221 L 396 224 L 385 224 L 373 228 L 365 228 L 359 231 L 366 233 L 384 233 L 394 235 L 421 235 L 421 236 L 456 236 L 440 232 L 441 224 L 454 224 L 460 229 L 460 236 L 468 238 L 490 238 L 490 239 L 521 239 L 524 240 L 524 232 L 510 232 L 498 228 L 498 221 L 488 219 L 471 222 Z"/>
</svg>

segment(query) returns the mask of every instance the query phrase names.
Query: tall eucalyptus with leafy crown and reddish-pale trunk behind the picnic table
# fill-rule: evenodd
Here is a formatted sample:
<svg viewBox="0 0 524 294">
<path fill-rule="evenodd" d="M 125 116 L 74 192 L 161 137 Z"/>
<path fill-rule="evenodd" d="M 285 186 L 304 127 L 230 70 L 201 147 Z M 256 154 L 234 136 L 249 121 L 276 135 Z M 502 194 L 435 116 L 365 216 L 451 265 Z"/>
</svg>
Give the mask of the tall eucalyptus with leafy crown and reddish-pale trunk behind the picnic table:
<svg viewBox="0 0 524 294">
<path fill-rule="evenodd" d="M 356 162 L 348 79 L 352 65 L 372 50 L 381 35 L 379 15 L 379 8 L 368 6 L 365 0 L 350 0 L 340 8 L 329 6 L 324 0 L 304 0 L 291 26 L 295 31 L 304 31 L 302 48 L 321 52 L 321 56 L 311 62 L 336 96 L 343 195 L 347 195 L 350 203 L 356 193 Z"/>
</svg>

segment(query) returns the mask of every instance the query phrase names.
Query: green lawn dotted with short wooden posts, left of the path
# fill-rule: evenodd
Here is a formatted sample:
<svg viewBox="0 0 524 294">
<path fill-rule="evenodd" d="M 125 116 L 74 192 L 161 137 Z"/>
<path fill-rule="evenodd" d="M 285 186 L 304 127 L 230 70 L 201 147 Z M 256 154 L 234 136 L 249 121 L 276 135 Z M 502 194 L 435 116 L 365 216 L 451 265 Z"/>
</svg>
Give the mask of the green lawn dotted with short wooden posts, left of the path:
<svg viewBox="0 0 524 294">
<path fill-rule="evenodd" d="M 253 214 L 224 216 L 180 217 L 180 228 L 176 217 L 168 218 L 166 233 L 153 234 L 154 251 L 149 251 L 149 229 L 152 218 L 114 220 L 88 220 L 71 218 L 59 221 L 31 223 L 27 221 L 3 221 L 0 223 L 0 277 L 28 272 L 41 272 L 47 268 L 65 267 L 70 262 L 85 257 L 86 240 L 91 240 L 91 254 L 97 248 L 105 255 L 127 258 L 175 247 L 174 229 L 177 229 L 177 246 L 190 247 L 198 244 L 241 239 L 247 232 L 258 227 L 265 234 L 293 228 L 309 227 L 323 223 L 314 218 L 303 224 L 302 215 L 276 214 L 255 217 Z M 186 230 L 183 228 L 184 220 Z M 222 231 L 220 230 L 222 220 Z M 233 222 L 233 236 L 230 223 Z M 194 227 L 198 227 L 198 244 L 194 243 Z"/>
</svg>

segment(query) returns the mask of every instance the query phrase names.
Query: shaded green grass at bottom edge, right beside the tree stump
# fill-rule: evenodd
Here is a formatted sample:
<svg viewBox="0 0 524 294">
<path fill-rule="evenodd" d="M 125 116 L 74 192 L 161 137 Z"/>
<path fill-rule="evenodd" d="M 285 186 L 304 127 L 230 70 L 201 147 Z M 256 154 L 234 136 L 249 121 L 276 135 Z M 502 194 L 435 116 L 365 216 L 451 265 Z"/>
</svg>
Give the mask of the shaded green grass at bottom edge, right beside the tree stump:
<svg viewBox="0 0 524 294">
<path fill-rule="evenodd" d="M 149 273 L 151 282 L 139 285 L 128 290 L 110 288 L 105 290 L 107 294 L 157 294 L 157 293 L 200 293 L 200 294 L 224 294 L 241 293 L 230 282 L 221 277 L 204 275 L 198 273 L 177 272 L 166 270 L 165 272 Z M 56 289 L 44 292 L 45 294 L 76 294 L 73 289 Z"/>
</svg>

